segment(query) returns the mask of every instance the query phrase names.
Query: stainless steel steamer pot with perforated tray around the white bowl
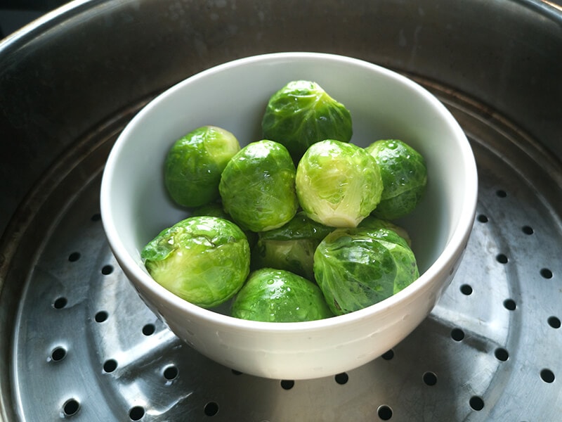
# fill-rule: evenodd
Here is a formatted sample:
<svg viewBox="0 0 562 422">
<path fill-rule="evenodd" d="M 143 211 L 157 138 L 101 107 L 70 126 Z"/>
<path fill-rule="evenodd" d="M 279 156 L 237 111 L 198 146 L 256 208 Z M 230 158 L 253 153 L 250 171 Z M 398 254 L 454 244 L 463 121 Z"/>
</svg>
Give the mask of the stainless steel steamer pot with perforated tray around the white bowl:
<svg viewBox="0 0 562 422">
<path fill-rule="evenodd" d="M 200 70 L 273 51 L 412 77 L 462 125 L 473 234 L 424 323 L 360 369 L 247 376 L 181 343 L 99 216 L 126 122 Z M 557 421 L 562 8 L 547 1 L 73 1 L 0 43 L 0 421 Z M 223 98 L 223 101 L 233 101 Z"/>
</svg>

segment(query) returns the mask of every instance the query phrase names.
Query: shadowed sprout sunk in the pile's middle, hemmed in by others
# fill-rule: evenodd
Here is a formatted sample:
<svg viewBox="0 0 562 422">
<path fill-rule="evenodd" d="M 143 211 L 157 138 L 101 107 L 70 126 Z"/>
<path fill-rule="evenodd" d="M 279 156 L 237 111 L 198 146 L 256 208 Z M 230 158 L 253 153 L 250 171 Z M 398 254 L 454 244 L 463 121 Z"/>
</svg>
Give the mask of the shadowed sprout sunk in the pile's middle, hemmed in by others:
<svg viewBox="0 0 562 422">
<path fill-rule="evenodd" d="M 285 226 L 258 234 L 251 252 L 251 268 L 285 269 L 314 280 L 314 251 L 333 230 L 309 219 L 303 211 L 297 212 Z"/>
</svg>

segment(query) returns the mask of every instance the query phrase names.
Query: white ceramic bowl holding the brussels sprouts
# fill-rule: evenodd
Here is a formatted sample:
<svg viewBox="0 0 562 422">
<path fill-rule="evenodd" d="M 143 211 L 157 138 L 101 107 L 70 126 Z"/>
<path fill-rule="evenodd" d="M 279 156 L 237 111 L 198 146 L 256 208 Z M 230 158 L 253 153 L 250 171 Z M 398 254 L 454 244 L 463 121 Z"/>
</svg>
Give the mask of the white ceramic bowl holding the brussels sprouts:
<svg viewBox="0 0 562 422">
<path fill-rule="evenodd" d="M 171 144 L 204 124 L 261 139 L 268 98 L 294 79 L 318 82 L 353 118 L 352 142 L 402 139 L 426 158 L 428 188 L 400 222 L 421 276 L 391 298 L 331 319 L 266 323 L 235 319 L 176 297 L 148 275 L 140 251 L 185 218 L 166 196 L 162 163 Z M 428 91 L 395 72 L 324 53 L 273 53 L 218 65 L 151 101 L 124 129 L 103 173 L 101 215 L 112 252 L 145 303 L 179 338 L 232 369 L 279 379 L 329 376 L 370 362 L 431 312 L 450 283 L 476 209 L 476 164 L 456 120 Z"/>
</svg>

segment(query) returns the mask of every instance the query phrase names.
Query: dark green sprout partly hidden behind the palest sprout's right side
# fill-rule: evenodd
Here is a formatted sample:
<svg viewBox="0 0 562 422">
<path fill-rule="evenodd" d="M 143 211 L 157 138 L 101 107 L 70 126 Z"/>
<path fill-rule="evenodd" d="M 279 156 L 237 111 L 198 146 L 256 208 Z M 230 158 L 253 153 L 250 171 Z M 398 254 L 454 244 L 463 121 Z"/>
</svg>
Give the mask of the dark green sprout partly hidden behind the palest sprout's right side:
<svg viewBox="0 0 562 422">
<path fill-rule="evenodd" d="M 426 162 L 420 153 L 398 139 L 376 141 L 365 148 L 381 170 L 381 202 L 374 215 L 397 219 L 410 214 L 424 195 Z"/>
</svg>

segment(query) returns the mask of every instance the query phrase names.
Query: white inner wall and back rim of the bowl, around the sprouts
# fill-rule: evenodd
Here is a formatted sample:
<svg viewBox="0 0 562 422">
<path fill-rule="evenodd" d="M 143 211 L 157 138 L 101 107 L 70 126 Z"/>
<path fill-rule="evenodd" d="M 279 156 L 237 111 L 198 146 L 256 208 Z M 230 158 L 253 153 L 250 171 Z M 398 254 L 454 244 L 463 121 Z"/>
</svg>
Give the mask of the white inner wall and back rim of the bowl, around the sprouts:
<svg viewBox="0 0 562 422">
<path fill-rule="evenodd" d="M 219 65 L 155 98 L 119 136 L 102 183 L 102 217 L 120 264 L 144 271 L 140 251 L 188 215 L 166 195 L 164 157 L 171 144 L 204 124 L 233 132 L 243 146 L 261 138 L 268 98 L 294 79 L 318 82 L 351 111 L 352 142 L 410 143 L 428 167 L 426 196 L 399 224 L 412 238 L 423 273 L 452 238 L 473 181 L 469 144 L 445 107 L 419 85 L 361 60 L 320 53 L 276 53 Z M 146 276 L 148 274 L 145 273 Z"/>
</svg>

